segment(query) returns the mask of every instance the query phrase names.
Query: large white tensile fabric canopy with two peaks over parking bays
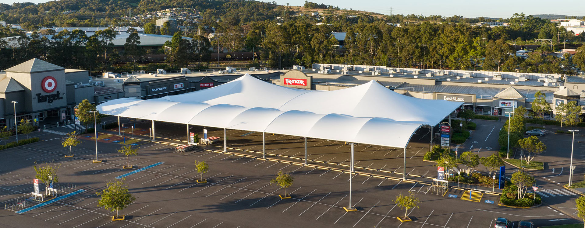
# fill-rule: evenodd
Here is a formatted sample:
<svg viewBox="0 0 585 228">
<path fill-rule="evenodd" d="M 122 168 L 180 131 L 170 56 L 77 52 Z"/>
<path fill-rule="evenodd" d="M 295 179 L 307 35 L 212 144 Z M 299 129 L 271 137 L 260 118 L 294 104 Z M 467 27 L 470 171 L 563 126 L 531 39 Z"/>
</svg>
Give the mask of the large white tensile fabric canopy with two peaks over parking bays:
<svg viewBox="0 0 585 228">
<path fill-rule="evenodd" d="M 342 90 L 292 89 L 248 74 L 223 85 L 160 99 L 123 98 L 102 114 L 216 128 L 405 148 L 462 102 L 404 96 L 374 80 Z"/>
</svg>

